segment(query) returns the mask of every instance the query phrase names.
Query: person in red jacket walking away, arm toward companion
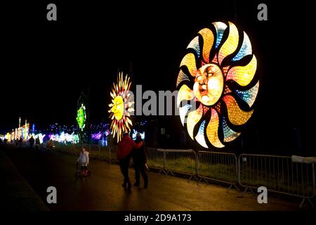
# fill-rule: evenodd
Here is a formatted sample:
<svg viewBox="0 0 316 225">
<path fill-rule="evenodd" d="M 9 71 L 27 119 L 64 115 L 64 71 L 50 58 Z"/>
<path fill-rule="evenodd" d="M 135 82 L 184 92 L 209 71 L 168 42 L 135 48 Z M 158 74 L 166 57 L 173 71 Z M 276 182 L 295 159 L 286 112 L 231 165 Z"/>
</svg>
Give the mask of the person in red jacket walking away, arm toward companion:
<svg viewBox="0 0 316 225">
<path fill-rule="evenodd" d="M 128 133 L 124 134 L 123 138 L 117 144 L 117 159 L 119 160 L 119 167 L 124 176 L 124 183 L 122 186 L 125 191 L 131 191 L 131 181 L 129 181 L 129 162 L 131 160 L 131 150 L 133 148 L 140 148 L 143 142 L 136 144 Z"/>
</svg>

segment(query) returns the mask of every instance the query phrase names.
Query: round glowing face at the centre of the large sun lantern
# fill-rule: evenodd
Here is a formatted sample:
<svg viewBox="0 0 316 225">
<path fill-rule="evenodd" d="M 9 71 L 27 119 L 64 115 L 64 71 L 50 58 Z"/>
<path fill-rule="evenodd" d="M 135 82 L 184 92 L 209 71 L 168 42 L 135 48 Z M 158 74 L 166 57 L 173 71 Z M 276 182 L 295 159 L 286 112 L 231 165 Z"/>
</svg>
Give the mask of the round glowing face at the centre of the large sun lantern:
<svg viewBox="0 0 316 225">
<path fill-rule="evenodd" d="M 193 91 L 195 97 L 204 105 L 214 105 L 223 93 L 224 78 L 222 70 L 213 63 L 199 68 L 195 77 Z"/>
</svg>

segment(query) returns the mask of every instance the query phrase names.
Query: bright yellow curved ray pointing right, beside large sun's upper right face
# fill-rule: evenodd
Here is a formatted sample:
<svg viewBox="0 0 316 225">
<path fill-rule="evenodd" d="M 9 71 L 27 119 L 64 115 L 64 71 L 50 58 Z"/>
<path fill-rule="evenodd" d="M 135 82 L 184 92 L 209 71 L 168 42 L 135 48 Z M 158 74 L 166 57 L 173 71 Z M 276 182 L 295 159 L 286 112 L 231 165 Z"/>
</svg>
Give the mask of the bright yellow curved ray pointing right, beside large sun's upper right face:
<svg viewBox="0 0 316 225">
<path fill-rule="evenodd" d="M 256 73 L 257 59 L 256 56 L 252 56 L 252 59 L 248 65 L 235 66 L 228 71 L 226 80 L 232 79 L 241 86 L 248 85 Z"/>
</svg>

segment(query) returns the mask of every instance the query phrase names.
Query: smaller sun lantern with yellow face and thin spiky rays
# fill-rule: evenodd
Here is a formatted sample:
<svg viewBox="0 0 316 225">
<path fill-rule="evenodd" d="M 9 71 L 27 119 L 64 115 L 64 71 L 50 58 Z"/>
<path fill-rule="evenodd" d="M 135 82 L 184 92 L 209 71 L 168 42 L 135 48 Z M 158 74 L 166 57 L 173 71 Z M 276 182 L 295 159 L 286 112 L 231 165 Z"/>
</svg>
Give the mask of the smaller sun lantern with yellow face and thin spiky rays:
<svg viewBox="0 0 316 225">
<path fill-rule="evenodd" d="M 117 136 L 117 142 L 121 141 L 121 137 L 125 132 L 131 131 L 131 112 L 134 111 L 131 101 L 130 78 L 128 75 L 123 78 L 123 72 L 117 76 L 117 84 L 113 83 L 112 91 L 110 92 L 112 103 L 109 104 L 111 123 L 111 134 L 113 138 Z"/>
</svg>

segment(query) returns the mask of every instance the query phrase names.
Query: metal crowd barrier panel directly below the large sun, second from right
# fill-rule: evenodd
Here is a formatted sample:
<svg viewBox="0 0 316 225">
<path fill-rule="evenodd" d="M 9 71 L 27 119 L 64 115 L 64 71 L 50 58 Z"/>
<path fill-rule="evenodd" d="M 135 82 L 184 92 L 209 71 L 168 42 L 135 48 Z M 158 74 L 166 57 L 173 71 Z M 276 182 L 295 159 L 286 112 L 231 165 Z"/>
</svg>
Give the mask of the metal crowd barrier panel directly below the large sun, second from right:
<svg viewBox="0 0 316 225">
<path fill-rule="evenodd" d="M 236 186 L 238 182 L 237 157 L 233 153 L 217 153 L 199 151 L 198 155 L 198 176 L 199 181 L 213 180 L 230 184 L 239 191 Z"/>
</svg>

